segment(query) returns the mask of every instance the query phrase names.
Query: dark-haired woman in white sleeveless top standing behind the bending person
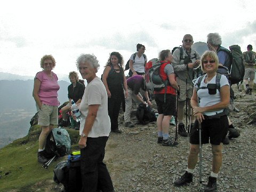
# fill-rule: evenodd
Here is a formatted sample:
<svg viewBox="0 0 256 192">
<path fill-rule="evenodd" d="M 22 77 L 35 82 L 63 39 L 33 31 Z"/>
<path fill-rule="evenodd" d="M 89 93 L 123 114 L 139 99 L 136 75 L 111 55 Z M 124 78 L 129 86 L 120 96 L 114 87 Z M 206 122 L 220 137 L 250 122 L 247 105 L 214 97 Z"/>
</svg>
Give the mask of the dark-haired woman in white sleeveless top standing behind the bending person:
<svg viewBox="0 0 256 192">
<path fill-rule="evenodd" d="M 129 76 L 134 75 L 144 75 L 145 74 L 145 65 L 147 63 L 147 56 L 144 54 L 146 48 L 142 44 L 137 44 L 137 54 L 132 54 L 130 57 L 130 71 Z M 134 58 L 135 55 L 135 58 Z"/>
</svg>

